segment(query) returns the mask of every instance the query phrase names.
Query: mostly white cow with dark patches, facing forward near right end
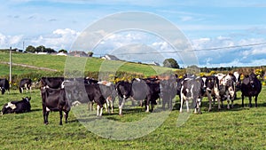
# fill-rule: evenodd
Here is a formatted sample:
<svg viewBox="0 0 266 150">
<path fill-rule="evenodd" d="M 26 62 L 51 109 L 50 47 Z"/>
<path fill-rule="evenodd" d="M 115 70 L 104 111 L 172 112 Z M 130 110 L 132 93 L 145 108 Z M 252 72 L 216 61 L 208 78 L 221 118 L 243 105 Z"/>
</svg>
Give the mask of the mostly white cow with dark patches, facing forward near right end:
<svg viewBox="0 0 266 150">
<path fill-rule="evenodd" d="M 219 80 L 219 95 L 221 97 L 222 106 L 223 106 L 223 100 L 226 99 L 227 109 L 230 109 L 231 107 L 233 107 L 233 101 L 236 96 L 236 91 L 235 91 L 236 78 L 232 74 L 227 74 L 227 75 L 217 74 L 215 76 L 217 76 Z"/>
</svg>

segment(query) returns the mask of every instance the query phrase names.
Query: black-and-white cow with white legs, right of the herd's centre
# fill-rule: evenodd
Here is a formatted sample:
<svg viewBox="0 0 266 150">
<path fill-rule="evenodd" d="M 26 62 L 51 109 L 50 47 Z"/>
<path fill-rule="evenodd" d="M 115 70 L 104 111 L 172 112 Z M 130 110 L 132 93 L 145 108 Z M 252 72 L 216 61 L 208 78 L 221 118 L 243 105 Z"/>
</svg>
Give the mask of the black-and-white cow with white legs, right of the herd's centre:
<svg viewBox="0 0 266 150">
<path fill-rule="evenodd" d="M 180 93 L 180 113 L 182 113 L 183 111 L 184 101 L 186 102 L 186 110 L 187 112 L 189 112 L 189 100 L 192 100 L 192 107 L 194 108 L 194 113 L 201 114 L 200 104 L 204 92 L 204 82 L 200 77 L 185 78 L 182 83 Z"/>
</svg>

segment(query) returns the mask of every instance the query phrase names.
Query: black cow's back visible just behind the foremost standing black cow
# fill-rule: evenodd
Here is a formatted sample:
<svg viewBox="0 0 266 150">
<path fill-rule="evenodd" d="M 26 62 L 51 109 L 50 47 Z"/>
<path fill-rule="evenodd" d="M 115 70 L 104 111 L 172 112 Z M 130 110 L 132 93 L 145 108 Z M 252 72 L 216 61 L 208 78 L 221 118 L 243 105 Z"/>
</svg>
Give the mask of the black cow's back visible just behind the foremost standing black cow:
<svg viewBox="0 0 266 150">
<path fill-rule="evenodd" d="M 42 77 L 41 78 L 41 89 L 52 88 L 52 89 L 63 89 L 62 83 L 64 77 Z"/>
</svg>

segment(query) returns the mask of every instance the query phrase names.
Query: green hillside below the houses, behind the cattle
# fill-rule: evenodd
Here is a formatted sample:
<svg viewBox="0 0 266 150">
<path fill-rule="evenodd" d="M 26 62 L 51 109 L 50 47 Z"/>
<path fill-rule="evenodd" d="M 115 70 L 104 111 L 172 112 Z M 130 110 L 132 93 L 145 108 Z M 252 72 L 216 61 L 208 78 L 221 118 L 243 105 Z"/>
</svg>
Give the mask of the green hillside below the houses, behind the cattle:
<svg viewBox="0 0 266 150">
<path fill-rule="evenodd" d="M 6 63 L 9 62 L 9 52 L 0 51 L 0 58 L 0 76 L 7 76 L 9 75 L 9 65 Z M 56 55 L 37 55 L 20 52 L 12 53 L 12 64 L 12 75 L 23 75 L 28 73 L 52 74 L 55 70 L 57 72 L 64 73 L 66 69 L 77 69 L 84 72 L 129 72 L 142 75 L 158 75 L 158 73 L 172 70 L 165 67 L 155 67 L 126 61 L 113 61 L 98 58 L 76 58 Z M 16 66 L 21 64 L 29 67 Z M 81 68 L 79 67 L 81 64 L 86 65 L 82 69 L 78 69 Z M 53 71 L 45 70 L 43 68 L 53 69 Z"/>
</svg>

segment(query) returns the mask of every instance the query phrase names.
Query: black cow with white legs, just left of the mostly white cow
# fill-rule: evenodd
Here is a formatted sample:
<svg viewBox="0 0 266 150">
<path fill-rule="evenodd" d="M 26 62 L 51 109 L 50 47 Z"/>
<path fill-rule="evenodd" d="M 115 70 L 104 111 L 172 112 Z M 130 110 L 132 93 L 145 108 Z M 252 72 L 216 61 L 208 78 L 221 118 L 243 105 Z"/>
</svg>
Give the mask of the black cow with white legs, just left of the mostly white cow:
<svg viewBox="0 0 266 150">
<path fill-rule="evenodd" d="M 220 93 L 219 93 L 219 80 L 218 77 L 215 75 L 210 76 L 202 76 L 203 80 L 203 88 L 205 90 L 205 93 L 203 94 L 204 97 L 207 97 L 208 99 L 208 111 L 211 111 L 212 109 L 212 96 L 215 97 L 218 101 L 218 110 L 221 109 L 220 106 Z"/>
</svg>

